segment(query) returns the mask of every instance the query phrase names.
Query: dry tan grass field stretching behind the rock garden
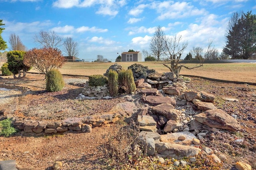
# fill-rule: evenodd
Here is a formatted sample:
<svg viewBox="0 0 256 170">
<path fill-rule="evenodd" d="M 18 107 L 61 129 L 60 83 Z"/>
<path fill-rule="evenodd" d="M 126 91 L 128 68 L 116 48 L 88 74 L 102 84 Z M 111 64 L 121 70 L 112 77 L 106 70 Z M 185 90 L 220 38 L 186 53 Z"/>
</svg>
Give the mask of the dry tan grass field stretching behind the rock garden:
<svg viewBox="0 0 256 170">
<path fill-rule="evenodd" d="M 162 63 L 156 62 L 137 62 L 157 72 L 170 71 Z M 66 63 L 60 72 L 62 74 L 75 74 L 90 76 L 93 74 L 104 74 L 106 70 L 114 63 Z M 131 62 L 118 62 L 124 69 L 134 64 Z M 195 64 L 186 64 L 186 66 L 195 66 Z M 202 76 L 215 78 L 219 80 L 230 80 L 240 82 L 256 82 L 256 63 L 223 63 L 223 64 L 204 64 L 204 66 L 188 70 L 182 68 L 180 74 Z"/>
</svg>

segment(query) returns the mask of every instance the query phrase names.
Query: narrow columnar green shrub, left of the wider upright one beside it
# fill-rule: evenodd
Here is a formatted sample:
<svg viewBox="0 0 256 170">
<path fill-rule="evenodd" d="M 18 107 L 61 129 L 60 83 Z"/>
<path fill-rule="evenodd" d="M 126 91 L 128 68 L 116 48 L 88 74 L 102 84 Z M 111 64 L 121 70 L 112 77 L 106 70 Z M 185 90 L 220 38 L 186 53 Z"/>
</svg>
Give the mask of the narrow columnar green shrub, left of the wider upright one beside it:
<svg viewBox="0 0 256 170">
<path fill-rule="evenodd" d="M 118 73 L 110 70 L 108 72 L 108 87 L 110 96 L 116 96 L 118 94 Z"/>
</svg>

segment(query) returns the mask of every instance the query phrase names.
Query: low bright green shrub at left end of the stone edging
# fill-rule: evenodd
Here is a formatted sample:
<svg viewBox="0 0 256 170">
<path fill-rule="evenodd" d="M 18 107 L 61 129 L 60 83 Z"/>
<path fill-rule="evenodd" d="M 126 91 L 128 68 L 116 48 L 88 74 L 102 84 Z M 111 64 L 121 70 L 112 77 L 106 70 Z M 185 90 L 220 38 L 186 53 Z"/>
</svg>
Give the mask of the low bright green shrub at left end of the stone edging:
<svg viewBox="0 0 256 170">
<path fill-rule="evenodd" d="M 0 121 L 0 136 L 8 137 L 16 132 L 17 130 L 13 127 L 10 119 Z"/>
</svg>

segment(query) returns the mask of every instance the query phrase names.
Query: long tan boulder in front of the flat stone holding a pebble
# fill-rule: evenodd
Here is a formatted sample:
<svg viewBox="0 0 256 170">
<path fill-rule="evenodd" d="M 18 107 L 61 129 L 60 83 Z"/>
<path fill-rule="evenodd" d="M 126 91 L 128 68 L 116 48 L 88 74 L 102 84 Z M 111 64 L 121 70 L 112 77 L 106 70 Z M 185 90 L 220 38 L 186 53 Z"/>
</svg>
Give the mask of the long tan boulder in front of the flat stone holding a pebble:
<svg viewBox="0 0 256 170">
<path fill-rule="evenodd" d="M 196 156 L 201 149 L 174 143 L 156 143 L 156 152 L 162 157 L 175 158 L 180 160 L 184 157 Z"/>
</svg>

